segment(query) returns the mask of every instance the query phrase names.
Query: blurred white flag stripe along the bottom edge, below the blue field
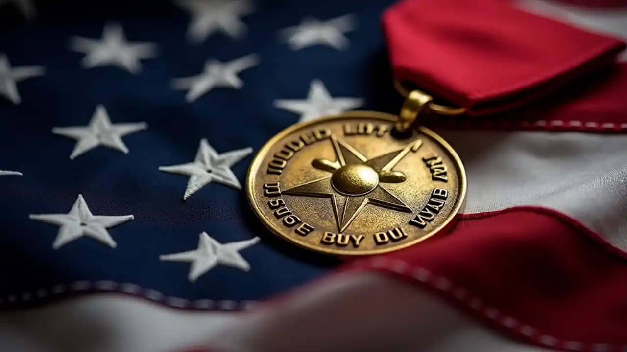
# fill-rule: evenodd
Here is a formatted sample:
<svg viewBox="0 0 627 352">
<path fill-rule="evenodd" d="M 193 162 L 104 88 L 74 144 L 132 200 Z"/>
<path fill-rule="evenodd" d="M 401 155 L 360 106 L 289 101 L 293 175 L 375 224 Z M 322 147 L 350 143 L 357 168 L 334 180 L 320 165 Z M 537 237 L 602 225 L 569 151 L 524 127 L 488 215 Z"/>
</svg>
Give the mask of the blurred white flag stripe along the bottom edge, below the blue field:
<svg viewBox="0 0 627 352">
<path fill-rule="evenodd" d="M 0 314 L 0 351 L 176 352 L 209 340 L 234 352 L 544 351 L 492 334 L 396 279 L 362 274 L 310 291 L 283 309 L 243 318 L 181 312 L 128 296 L 87 296 Z M 300 312 L 311 315 L 300 322 Z M 386 349 L 391 342 L 379 338 L 385 336 L 396 338 L 400 349 Z M 356 349 L 335 348 L 335 338 Z M 246 349 L 260 339 L 271 347 Z"/>
</svg>

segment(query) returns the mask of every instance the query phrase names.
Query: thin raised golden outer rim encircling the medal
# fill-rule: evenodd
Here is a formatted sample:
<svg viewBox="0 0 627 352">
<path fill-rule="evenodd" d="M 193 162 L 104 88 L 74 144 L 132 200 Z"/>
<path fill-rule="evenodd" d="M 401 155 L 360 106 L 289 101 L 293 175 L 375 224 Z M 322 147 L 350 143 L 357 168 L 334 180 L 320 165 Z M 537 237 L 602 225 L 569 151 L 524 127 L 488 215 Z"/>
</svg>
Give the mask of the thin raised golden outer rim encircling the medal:
<svg viewBox="0 0 627 352">
<path fill-rule="evenodd" d="M 310 251 L 317 252 L 320 254 L 339 256 L 339 257 L 361 257 L 361 256 L 374 256 L 377 254 L 385 254 L 389 252 L 400 251 L 401 249 L 405 249 L 405 248 L 414 246 L 415 244 L 418 244 L 420 242 L 423 242 L 424 240 L 430 237 L 436 236 L 437 234 L 441 234 L 441 232 L 445 232 L 446 230 L 450 229 L 450 227 L 456 224 L 458 217 L 460 216 L 460 212 L 465 208 L 465 205 L 466 205 L 466 193 L 468 190 L 468 181 L 466 179 L 466 169 L 464 167 L 463 162 L 461 162 L 460 156 L 455 151 L 455 148 L 451 147 L 451 145 L 448 142 L 446 142 L 444 138 L 440 137 L 438 133 L 435 133 L 433 132 L 433 130 L 430 130 L 429 128 L 426 128 L 423 126 L 419 126 L 416 129 L 419 132 L 424 133 L 428 137 L 433 138 L 436 142 L 440 143 L 443 149 L 445 149 L 446 152 L 449 153 L 451 158 L 455 160 L 456 167 L 459 170 L 459 180 L 460 180 L 458 202 L 456 202 L 453 209 L 451 209 L 450 215 L 440 225 L 438 225 L 438 227 L 431 230 L 425 236 L 419 237 L 418 239 L 414 239 L 412 241 L 407 241 L 406 243 L 399 244 L 398 246 L 395 246 L 395 247 L 384 248 L 384 249 L 371 249 L 369 251 L 360 252 L 360 251 L 346 251 L 344 249 L 325 249 L 324 247 L 312 246 L 309 244 L 295 241 L 294 239 L 292 239 L 292 237 L 283 235 L 282 231 L 279 229 L 277 225 L 265 219 L 265 217 L 263 216 L 263 212 L 261 211 L 260 205 L 258 204 L 258 202 L 256 202 L 254 198 L 255 189 L 253 189 L 253 183 L 254 183 L 256 172 L 260 170 L 261 162 L 263 162 L 266 155 L 268 155 L 268 152 L 270 151 L 270 149 L 274 145 L 276 145 L 279 140 L 282 140 L 283 138 L 287 137 L 288 135 L 290 135 L 291 133 L 297 130 L 300 130 L 301 128 L 310 127 L 310 126 L 317 125 L 320 123 L 325 123 L 325 122 L 342 120 L 344 118 L 360 118 L 360 117 L 379 119 L 379 120 L 384 120 L 386 122 L 392 122 L 392 123 L 398 122 L 397 115 L 392 115 L 390 113 L 384 113 L 384 112 L 378 112 L 378 111 L 368 111 L 368 110 L 352 110 L 352 111 L 345 111 L 344 113 L 340 113 L 337 115 L 324 115 L 314 120 L 297 122 L 293 125 L 283 128 L 283 130 L 281 130 L 280 132 L 275 134 L 273 137 L 271 137 L 268 141 L 266 141 L 261 146 L 261 148 L 259 148 L 259 151 L 255 153 L 255 157 L 253 157 L 253 160 L 251 161 L 250 166 L 248 167 L 248 171 L 246 172 L 246 182 L 245 182 L 246 198 L 248 199 L 248 204 L 253 209 L 253 212 L 255 212 L 256 217 L 258 217 L 261 223 L 265 225 L 266 229 L 270 230 L 270 232 L 272 232 L 275 236 L 281 237 L 284 241 L 295 244 L 296 246 L 302 249 L 308 249 Z"/>
</svg>

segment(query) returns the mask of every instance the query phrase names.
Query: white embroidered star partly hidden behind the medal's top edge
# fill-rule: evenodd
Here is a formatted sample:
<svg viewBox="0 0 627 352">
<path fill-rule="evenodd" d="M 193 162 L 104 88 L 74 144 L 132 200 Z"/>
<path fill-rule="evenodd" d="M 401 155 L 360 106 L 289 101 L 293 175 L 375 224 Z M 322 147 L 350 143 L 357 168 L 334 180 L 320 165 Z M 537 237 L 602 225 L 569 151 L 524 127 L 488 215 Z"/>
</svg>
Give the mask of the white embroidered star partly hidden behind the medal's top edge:
<svg viewBox="0 0 627 352">
<path fill-rule="evenodd" d="M 364 105 L 361 98 L 333 98 L 324 83 L 313 80 L 309 86 L 307 99 L 275 100 L 277 108 L 300 114 L 300 122 L 314 120 L 324 115 L 335 115 Z"/>
</svg>

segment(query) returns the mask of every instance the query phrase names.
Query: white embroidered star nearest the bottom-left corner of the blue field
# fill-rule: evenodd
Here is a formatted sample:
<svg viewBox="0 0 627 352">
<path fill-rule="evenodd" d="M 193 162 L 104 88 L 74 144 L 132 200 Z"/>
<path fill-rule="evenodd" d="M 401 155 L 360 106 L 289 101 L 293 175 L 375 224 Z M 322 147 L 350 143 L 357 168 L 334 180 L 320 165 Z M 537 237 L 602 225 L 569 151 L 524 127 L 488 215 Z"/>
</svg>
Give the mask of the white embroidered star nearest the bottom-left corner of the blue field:
<svg viewBox="0 0 627 352">
<path fill-rule="evenodd" d="M 133 215 L 93 215 L 80 194 L 68 214 L 31 214 L 28 217 L 60 226 L 55 242 L 52 244 L 54 249 L 59 249 L 80 237 L 92 237 L 109 247 L 115 248 L 117 244 L 107 229 L 134 219 Z"/>
</svg>

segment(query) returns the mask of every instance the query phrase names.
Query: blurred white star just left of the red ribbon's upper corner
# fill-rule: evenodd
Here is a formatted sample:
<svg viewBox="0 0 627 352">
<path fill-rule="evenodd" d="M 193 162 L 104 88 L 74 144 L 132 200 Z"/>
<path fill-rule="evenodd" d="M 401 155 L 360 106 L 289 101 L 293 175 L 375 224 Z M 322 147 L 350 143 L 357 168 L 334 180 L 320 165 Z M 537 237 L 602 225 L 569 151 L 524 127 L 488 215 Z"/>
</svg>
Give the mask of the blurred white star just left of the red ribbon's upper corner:
<svg viewBox="0 0 627 352">
<path fill-rule="evenodd" d="M 327 21 L 308 17 L 304 18 L 298 26 L 282 29 L 280 35 L 292 50 L 300 50 L 316 44 L 344 50 L 349 46 L 349 39 L 344 34 L 354 29 L 353 14 L 345 14 Z"/>
</svg>

